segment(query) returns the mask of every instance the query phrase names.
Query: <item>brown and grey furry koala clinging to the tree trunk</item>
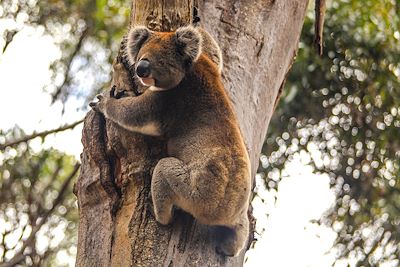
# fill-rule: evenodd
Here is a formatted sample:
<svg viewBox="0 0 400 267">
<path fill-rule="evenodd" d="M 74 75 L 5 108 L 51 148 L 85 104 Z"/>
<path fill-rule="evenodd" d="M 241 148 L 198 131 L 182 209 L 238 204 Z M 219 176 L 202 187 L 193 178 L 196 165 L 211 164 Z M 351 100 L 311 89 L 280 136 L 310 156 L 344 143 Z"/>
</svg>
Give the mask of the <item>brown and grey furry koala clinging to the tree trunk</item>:
<svg viewBox="0 0 400 267">
<path fill-rule="evenodd" d="M 221 226 L 226 234 L 216 250 L 236 256 L 249 234 L 250 160 L 221 80 L 221 52 L 205 33 L 192 26 L 132 28 L 128 60 L 148 89 L 136 97 L 99 95 L 91 106 L 129 131 L 166 140 L 168 157 L 151 181 L 156 220 L 167 225 L 180 208 L 202 224 Z"/>
</svg>

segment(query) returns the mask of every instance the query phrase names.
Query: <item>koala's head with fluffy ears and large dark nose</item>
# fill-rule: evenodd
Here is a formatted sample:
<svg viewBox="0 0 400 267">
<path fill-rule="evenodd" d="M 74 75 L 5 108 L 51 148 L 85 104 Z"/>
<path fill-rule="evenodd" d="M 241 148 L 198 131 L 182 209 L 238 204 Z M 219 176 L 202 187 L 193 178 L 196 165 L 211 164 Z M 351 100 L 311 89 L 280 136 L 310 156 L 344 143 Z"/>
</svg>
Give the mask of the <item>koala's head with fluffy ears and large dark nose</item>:
<svg viewBox="0 0 400 267">
<path fill-rule="evenodd" d="M 140 82 L 153 90 L 176 87 L 201 54 L 201 35 L 193 27 L 175 32 L 153 32 L 143 26 L 131 29 L 127 55 Z"/>
</svg>

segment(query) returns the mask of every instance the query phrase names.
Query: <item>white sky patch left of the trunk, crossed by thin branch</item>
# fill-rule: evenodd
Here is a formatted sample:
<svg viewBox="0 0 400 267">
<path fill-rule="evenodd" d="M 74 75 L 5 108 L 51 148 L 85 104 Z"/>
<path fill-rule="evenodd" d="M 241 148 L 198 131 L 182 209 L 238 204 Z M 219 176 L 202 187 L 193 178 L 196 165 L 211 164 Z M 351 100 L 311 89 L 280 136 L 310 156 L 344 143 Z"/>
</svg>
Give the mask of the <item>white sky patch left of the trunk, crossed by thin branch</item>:
<svg viewBox="0 0 400 267">
<path fill-rule="evenodd" d="M 1 23 L 0 23 L 1 28 Z M 0 128 L 9 129 L 18 124 L 27 133 L 58 128 L 84 117 L 77 112 L 81 103 L 70 100 L 62 116 L 62 104 L 50 107 L 51 97 L 43 93 L 43 86 L 50 81 L 51 61 L 60 57 L 59 49 L 49 36 L 41 31 L 25 28 L 15 36 L 4 55 L 0 54 Z M 53 135 L 45 146 L 53 146 L 69 154 L 79 156 L 82 126 Z M 33 145 L 38 148 L 41 140 Z"/>
</svg>

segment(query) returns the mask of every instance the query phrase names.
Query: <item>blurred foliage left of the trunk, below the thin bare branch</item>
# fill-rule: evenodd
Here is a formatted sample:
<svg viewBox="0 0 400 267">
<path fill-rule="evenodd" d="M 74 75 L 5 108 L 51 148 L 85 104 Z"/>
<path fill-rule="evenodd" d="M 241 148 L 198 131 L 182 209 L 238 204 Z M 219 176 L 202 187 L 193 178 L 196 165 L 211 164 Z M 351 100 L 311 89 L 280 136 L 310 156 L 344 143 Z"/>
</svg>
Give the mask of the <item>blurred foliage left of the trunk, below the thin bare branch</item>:
<svg viewBox="0 0 400 267">
<path fill-rule="evenodd" d="M 0 139 L 20 135 L 0 132 Z M 79 165 L 55 150 L 25 143 L 0 153 L 0 262 L 52 266 L 57 252 L 73 254 L 77 206 L 72 181 Z"/>
</svg>

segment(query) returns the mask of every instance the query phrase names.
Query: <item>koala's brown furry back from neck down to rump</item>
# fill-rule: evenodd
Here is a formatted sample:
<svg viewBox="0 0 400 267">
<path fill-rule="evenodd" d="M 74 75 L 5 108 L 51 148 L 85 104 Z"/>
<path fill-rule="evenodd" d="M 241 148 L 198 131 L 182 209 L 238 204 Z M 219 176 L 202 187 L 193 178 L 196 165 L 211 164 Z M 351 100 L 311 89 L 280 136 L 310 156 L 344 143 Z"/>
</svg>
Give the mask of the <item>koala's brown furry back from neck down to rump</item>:
<svg viewBox="0 0 400 267">
<path fill-rule="evenodd" d="M 179 158 L 189 169 L 206 170 L 205 177 L 197 183 L 199 187 L 208 188 L 210 201 L 207 205 L 218 213 L 201 207 L 198 212 L 204 214 L 193 215 L 200 222 L 207 216 L 208 224 L 214 219 L 213 224 L 218 224 L 224 212 L 224 220 L 234 219 L 238 210 L 247 207 L 250 194 L 249 157 L 217 73 L 215 64 L 201 56 L 182 83 L 165 92 L 169 94 L 165 114 L 169 118 L 171 113 L 176 114 L 167 131 L 168 155 Z M 215 177 L 210 177 L 213 173 Z M 213 195 L 219 198 L 226 195 L 226 199 L 214 201 Z M 232 207 L 234 203 L 236 207 Z"/>
</svg>

